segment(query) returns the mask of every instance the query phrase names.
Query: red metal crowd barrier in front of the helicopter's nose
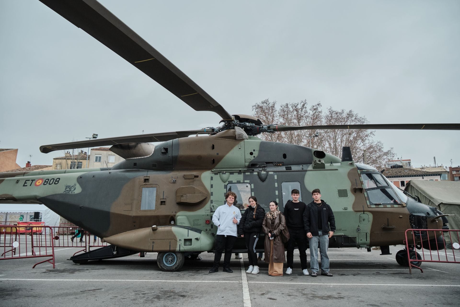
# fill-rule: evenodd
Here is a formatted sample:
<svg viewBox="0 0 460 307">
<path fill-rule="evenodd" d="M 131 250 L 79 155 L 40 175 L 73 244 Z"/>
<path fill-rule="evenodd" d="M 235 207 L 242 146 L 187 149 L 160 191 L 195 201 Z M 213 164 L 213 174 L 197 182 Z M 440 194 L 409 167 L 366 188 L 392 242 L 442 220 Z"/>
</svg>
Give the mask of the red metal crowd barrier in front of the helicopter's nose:
<svg viewBox="0 0 460 307">
<path fill-rule="evenodd" d="M 411 232 L 409 236 L 408 232 Z M 445 244 L 446 234 L 449 236 L 449 242 L 452 243 L 449 248 Z M 453 243 L 455 241 L 460 242 L 460 230 L 408 229 L 405 236 L 409 272 L 411 274 L 412 267 L 418 268 L 423 273 L 419 266 L 414 265 L 416 262 L 460 263 L 459 245 L 458 243 Z M 457 248 L 455 248 L 455 244 Z M 421 255 L 414 253 L 414 250 L 410 249 L 411 246 L 419 246 Z"/>
</svg>

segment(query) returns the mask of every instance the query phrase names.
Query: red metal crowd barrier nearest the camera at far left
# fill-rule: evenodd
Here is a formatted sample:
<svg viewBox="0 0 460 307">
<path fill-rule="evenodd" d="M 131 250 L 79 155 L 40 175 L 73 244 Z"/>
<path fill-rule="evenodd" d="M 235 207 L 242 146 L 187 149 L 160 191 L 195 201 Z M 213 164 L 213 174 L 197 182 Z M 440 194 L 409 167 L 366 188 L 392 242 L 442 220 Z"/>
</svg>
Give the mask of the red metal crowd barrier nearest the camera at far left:
<svg viewBox="0 0 460 307">
<path fill-rule="evenodd" d="M 34 226 L 40 231 L 25 234 L 21 226 L 2 226 L 0 233 L 0 260 L 51 257 L 35 263 L 49 262 L 55 268 L 53 230 L 50 226 Z M 5 230 L 5 231 L 3 231 Z"/>
</svg>

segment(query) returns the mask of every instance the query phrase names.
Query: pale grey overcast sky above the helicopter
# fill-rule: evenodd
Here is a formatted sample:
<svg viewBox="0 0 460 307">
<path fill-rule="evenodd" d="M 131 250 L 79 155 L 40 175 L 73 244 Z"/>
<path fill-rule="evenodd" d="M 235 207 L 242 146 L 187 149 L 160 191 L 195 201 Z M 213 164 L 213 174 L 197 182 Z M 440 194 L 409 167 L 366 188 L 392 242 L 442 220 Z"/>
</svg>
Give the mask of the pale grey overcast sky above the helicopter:
<svg viewBox="0 0 460 307">
<path fill-rule="evenodd" d="M 230 114 L 307 99 L 370 123 L 460 122 L 458 0 L 101 3 Z M 40 145 L 92 133 L 219 125 L 39 1 L 0 0 L 0 39 L 0 148 L 22 167 L 63 155 Z M 414 166 L 460 164 L 460 131 L 376 139 Z"/>
</svg>

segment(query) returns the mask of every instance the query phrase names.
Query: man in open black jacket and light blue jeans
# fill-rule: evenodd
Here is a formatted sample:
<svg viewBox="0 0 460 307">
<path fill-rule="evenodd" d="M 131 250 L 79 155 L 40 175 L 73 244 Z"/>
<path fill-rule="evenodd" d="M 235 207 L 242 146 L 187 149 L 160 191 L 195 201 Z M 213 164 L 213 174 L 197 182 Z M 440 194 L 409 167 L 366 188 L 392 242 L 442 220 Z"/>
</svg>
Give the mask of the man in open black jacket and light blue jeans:
<svg viewBox="0 0 460 307">
<path fill-rule="evenodd" d="M 310 243 L 310 269 L 311 277 L 316 277 L 318 266 L 318 243 L 321 254 L 321 275 L 332 277 L 329 272 L 328 246 L 329 239 L 335 232 L 334 212 L 331 207 L 321 199 L 319 189 L 311 191 L 313 201 L 304 211 L 305 232 Z"/>
</svg>

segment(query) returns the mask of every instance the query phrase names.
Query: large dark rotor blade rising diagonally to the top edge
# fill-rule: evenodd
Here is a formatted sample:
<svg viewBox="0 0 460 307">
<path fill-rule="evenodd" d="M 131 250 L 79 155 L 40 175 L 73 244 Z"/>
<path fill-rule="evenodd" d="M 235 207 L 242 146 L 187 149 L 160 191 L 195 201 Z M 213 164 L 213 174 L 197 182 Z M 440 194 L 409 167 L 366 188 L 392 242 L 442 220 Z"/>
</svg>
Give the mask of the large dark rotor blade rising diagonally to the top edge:
<svg viewBox="0 0 460 307">
<path fill-rule="evenodd" d="M 40 0 L 197 111 L 233 117 L 201 87 L 96 0 Z"/>
</svg>

